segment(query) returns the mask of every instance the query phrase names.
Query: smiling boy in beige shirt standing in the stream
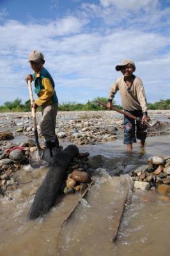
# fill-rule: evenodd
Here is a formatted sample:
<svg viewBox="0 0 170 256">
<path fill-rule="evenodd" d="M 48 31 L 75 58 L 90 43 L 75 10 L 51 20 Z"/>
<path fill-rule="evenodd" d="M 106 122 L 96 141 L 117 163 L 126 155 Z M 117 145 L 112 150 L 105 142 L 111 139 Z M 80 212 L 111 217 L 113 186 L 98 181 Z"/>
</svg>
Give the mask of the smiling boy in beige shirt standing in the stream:
<svg viewBox="0 0 170 256">
<path fill-rule="evenodd" d="M 112 99 L 119 90 L 121 102 L 124 111 L 142 118 L 142 122 L 147 122 L 147 102 L 144 92 L 143 82 L 137 76 L 134 76 L 135 63 L 132 60 L 125 59 L 120 64 L 116 65 L 116 71 L 121 71 L 123 76 L 119 77 L 111 86 L 109 92 L 107 108 L 111 109 Z M 132 143 L 136 142 L 136 138 L 141 141 L 141 147 L 144 147 L 146 140 L 146 131 L 143 130 L 139 122 L 132 118 L 124 116 L 124 144 L 127 144 L 127 151 L 132 151 Z"/>
</svg>

